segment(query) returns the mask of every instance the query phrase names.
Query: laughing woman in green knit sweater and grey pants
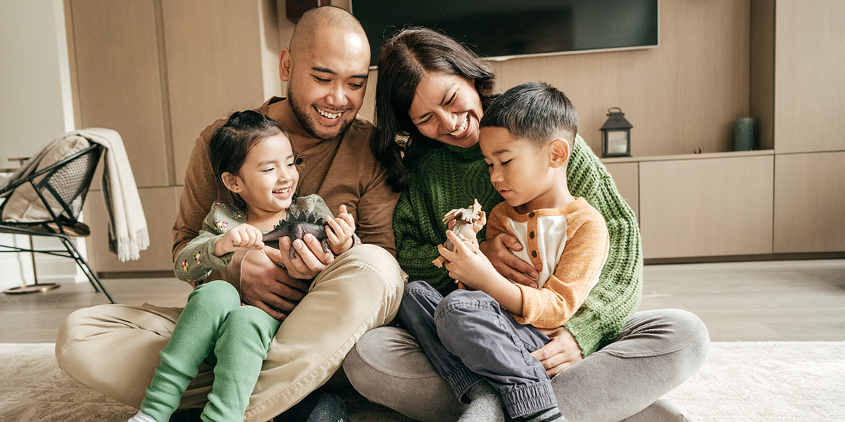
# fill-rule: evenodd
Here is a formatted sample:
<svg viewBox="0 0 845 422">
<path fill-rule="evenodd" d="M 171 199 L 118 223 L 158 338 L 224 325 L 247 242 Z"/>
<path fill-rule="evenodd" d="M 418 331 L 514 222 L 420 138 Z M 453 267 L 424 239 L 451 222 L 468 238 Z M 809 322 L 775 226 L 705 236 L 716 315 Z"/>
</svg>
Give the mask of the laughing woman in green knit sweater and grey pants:
<svg viewBox="0 0 845 422">
<path fill-rule="evenodd" d="M 379 57 L 377 133 L 371 147 L 389 169 L 390 183 L 402 192 L 394 215 L 397 258 L 409 280 L 423 279 L 444 294 L 455 289 L 454 283 L 446 270 L 431 264 L 439 256 L 436 246 L 445 240 L 443 214 L 474 198 L 485 211 L 502 200 L 477 145 L 478 121 L 496 92 L 488 63 L 433 30 L 402 30 Z M 402 136 L 407 137 L 404 159 L 395 141 Z M 615 421 L 632 415 L 684 420 L 671 403 L 654 402 L 704 362 L 706 327 L 685 311 L 634 313 L 642 273 L 636 220 L 580 137 L 567 179 L 572 194 L 585 197 L 605 217 L 610 253 L 581 310 L 564 327 L 550 330 L 552 341 L 533 355 L 553 376 L 567 420 Z M 521 248 L 509 235 L 481 244 L 499 273 L 530 285 L 536 276 L 532 266 L 509 248 Z M 398 327 L 366 333 L 344 369 L 365 397 L 412 418 L 457 419 L 464 411 L 416 341 Z"/>
</svg>

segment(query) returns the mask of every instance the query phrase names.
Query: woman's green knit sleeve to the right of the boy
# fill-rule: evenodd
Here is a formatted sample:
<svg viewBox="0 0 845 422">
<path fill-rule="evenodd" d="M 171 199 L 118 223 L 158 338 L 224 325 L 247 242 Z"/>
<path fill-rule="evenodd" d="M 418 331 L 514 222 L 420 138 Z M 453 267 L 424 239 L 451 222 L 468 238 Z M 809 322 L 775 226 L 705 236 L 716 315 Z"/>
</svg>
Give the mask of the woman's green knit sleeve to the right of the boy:
<svg viewBox="0 0 845 422">
<path fill-rule="evenodd" d="M 634 212 L 581 137 L 575 139 L 567 181 L 573 196 L 584 197 L 602 214 L 610 236 L 608 261 L 598 284 L 564 325 L 586 357 L 612 342 L 640 306 L 642 246 Z"/>
</svg>

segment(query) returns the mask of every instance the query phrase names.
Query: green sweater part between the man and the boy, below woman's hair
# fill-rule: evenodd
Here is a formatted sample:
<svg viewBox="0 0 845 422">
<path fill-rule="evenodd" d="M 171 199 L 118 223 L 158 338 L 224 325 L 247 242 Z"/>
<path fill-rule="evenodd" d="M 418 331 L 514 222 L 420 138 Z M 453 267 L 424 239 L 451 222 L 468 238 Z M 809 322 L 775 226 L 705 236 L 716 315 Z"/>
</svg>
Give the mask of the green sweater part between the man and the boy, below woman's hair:
<svg viewBox="0 0 845 422">
<path fill-rule="evenodd" d="M 473 199 L 488 214 L 502 201 L 490 182 L 478 145 L 439 146 L 413 167 L 393 215 L 396 259 L 409 281 L 426 281 L 443 295 L 456 288 L 449 272 L 432 261 L 440 256 L 437 246 L 446 241 L 443 215 L 469 207 Z M 482 241 L 484 230 L 477 237 Z"/>
</svg>

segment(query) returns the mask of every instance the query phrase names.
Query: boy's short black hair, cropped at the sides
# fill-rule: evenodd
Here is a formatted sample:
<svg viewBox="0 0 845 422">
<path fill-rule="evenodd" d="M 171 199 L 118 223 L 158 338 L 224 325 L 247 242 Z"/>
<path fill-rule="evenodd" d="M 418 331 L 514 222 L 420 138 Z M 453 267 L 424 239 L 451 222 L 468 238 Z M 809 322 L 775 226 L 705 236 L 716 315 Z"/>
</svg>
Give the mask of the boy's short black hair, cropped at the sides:
<svg viewBox="0 0 845 422">
<path fill-rule="evenodd" d="M 542 147 L 555 138 L 574 140 L 578 113 L 559 89 L 544 82 L 528 82 L 504 91 L 484 111 L 479 126 L 504 127 L 516 138 Z"/>
</svg>

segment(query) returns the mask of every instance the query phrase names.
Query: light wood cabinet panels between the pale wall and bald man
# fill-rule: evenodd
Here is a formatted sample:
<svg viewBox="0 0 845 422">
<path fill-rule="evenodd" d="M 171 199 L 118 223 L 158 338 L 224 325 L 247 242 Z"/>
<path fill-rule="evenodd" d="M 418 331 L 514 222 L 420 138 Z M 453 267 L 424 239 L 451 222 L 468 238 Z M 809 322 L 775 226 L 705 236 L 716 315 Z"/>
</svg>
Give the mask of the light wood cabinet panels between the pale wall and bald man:
<svg viewBox="0 0 845 422">
<path fill-rule="evenodd" d="M 101 178 L 86 220 L 97 272 L 172 270 L 172 225 L 188 156 L 202 129 L 281 95 L 274 0 L 65 0 L 78 127 L 123 138 L 150 249 L 139 261 L 108 252 Z"/>
</svg>

